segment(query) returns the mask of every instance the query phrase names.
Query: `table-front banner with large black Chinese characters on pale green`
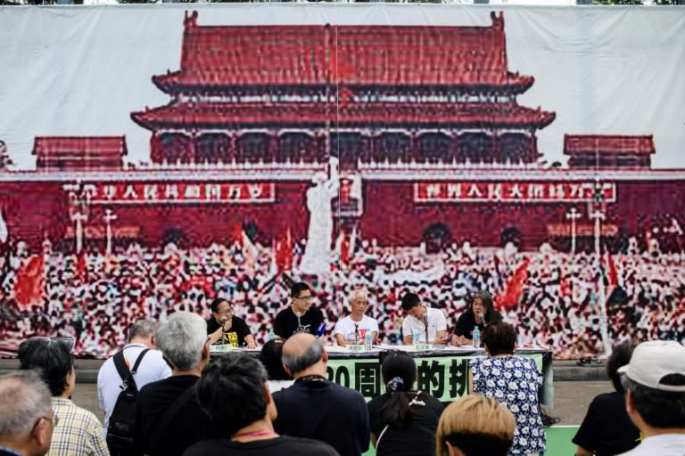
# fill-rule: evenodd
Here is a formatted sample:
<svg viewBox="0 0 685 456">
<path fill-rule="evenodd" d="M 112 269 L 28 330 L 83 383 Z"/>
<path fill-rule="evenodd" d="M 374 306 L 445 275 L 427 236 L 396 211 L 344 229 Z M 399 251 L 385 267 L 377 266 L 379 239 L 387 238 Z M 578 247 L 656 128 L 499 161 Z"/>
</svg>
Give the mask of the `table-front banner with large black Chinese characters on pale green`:
<svg viewBox="0 0 685 456">
<path fill-rule="evenodd" d="M 543 371 L 543 354 L 523 354 L 531 357 Z M 416 357 L 418 380 L 416 389 L 435 396 L 443 403 L 466 395 L 468 362 L 476 356 Z M 328 379 L 356 389 L 370 401 L 385 392 L 378 357 L 329 358 Z"/>
</svg>

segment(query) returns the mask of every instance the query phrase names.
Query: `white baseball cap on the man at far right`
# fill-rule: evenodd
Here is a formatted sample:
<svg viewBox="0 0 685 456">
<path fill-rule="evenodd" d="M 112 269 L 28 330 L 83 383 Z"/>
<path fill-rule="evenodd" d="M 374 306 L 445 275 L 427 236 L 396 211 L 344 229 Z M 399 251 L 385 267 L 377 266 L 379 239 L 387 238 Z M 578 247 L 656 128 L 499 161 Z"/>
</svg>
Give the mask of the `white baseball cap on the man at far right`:
<svg viewBox="0 0 685 456">
<path fill-rule="evenodd" d="M 685 376 L 685 346 L 673 340 L 642 342 L 632 352 L 631 362 L 618 371 L 645 387 L 685 393 L 685 385 L 661 383 L 670 374 Z"/>
</svg>

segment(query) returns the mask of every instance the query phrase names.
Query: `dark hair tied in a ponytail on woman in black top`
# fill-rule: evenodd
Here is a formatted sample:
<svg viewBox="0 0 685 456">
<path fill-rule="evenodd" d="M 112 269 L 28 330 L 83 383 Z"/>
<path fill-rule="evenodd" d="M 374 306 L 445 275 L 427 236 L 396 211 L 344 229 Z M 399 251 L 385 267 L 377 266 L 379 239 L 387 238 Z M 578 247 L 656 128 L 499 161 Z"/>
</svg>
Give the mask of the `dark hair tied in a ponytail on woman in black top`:
<svg viewBox="0 0 685 456">
<path fill-rule="evenodd" d="M 409 407 L 407 393 L 417 379 L 417 363 L 410 354 L 395 350 L 385 355 L 381 371 L 386 384 L 393 382 L 393 379 L 400 379 L 393 382 L 393 387 L 396 389 L 392 391 L 390 399 L 384 404 L 383 421 L 393 428 L 404 428 L 407 420 L 416 416 L 416 412 Z M 388 391 L 391 392 L 390 387 Z"/>
</svg>

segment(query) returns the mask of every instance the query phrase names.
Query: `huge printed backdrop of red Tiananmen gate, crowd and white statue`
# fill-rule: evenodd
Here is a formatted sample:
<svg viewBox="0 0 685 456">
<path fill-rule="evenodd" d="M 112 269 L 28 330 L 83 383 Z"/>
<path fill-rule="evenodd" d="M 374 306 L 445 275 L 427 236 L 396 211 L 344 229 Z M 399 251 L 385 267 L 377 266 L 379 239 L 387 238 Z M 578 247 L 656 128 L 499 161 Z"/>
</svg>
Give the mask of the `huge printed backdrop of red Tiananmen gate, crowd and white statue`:
<svg viewBox="0 0 685 456">
<path fill-rule="evenodd" d="M 384 344 L 404 292 L 450 332 L 479 289 L 558 358 L 682 340 L 683 30 L 677 6 L 0 6 L 0 353 L 105 357 L 217 296 L 261 342 L 293 281 L 330 342 L 358 288 Z M 422 362 L 460 394 L 461 360 Z M 366 395 L 374 369 L 330 374 Z"/>
</svg>

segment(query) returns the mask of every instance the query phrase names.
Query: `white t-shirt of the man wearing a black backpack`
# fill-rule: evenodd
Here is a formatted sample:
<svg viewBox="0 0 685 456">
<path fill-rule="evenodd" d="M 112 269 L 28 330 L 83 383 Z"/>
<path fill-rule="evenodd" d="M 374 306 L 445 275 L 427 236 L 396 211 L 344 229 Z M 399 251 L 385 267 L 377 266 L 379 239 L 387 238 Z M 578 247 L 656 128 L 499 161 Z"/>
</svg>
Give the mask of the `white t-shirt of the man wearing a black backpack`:
<svg viewBox="0 0 685 456">
<path fill-rule="evenodd" d="M 138 355 L 147 346 L 143 344 L 129 344 L 124 346 L 124 359 L 128 364 L 128 369 L 132 369 L 133 365 L 138 359 Z M 111 356 L 105 361 L 97 373 L 97 399 L 100 401 L 100 408 L 104 411 L 104 430 L 107 432 L 107 426 L 110 424 L 111 412 L 114 411 L 114 404 L 117 403 L 117 398 L 121 392 L 121 377 L 114 365 L 114 357 Z M 147 352 L 138 366 L 138 371 L 133 379 L 136 380 L 136 387 L 138 391 L 144 385 L 152 383 L 153 381 L 166 379 L 171 376 L 171 369 L 169 364 L 161 357 L 161 351 L 150 350 Z"/>
</svg>

